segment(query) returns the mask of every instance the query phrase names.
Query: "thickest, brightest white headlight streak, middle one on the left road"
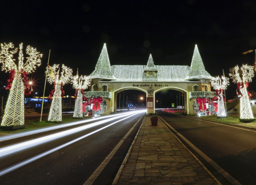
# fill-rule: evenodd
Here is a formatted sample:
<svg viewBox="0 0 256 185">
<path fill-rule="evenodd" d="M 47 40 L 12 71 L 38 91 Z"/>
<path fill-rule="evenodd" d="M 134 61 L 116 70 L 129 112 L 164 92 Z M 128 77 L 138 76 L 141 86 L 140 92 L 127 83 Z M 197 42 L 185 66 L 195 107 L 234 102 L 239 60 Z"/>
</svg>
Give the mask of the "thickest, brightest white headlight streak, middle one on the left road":
<svg viewBox="0 0 256 185">
<path fill-rule="evenodd" d="M 141 113 L 141 111 L 138 112 L 138 113 Z M 107 122 L 112 121 L 114 119 L 125 117 L 129 114 L 134 114 L 134 112 L 131 112 L 131 113 L 128 113 L 128 114 L 125 114 L 125 115 L 119 115 L 119 116 L 113 117 L 113 118 L 108 118 L 108 119 L 105 119 L 105 120 L 102 120 L 102 121 L 87 124 L 87 125 L 84 125 L 84 126 L 74 128 L 74 129 L 65 130 L 65 131 L 58 132 L 58 133 L 55 133 L 55 134 L 51 134 L 51 135 L 48 135 L 48 136 L 39 137 L 37 139 L 29 140 L 29 141 L 26 141 L 26 142 L 21 142 L 21 143 L 14 144 L 14 145 L 11 145 L 11 146 L 8 146 L 8 147 L 0 148 L 0 158 L 5 156 L 5 155 L 12 154 L 14 152 L 24 150 L 26 148 L 31 148 L 31 147 L 37 146 L 39 144 L 43 144 L 45 142 L 50 142 L 54 139 L 58 139 L 58 138 L 61 138 L 61 137 L 64 137 L 64 136 L 68 136 L 68 135 L 74 134 L 76 132 L 80 132 L 82 130 L 98 126 L 100 124 L 107 123 Z"/>
</svg>

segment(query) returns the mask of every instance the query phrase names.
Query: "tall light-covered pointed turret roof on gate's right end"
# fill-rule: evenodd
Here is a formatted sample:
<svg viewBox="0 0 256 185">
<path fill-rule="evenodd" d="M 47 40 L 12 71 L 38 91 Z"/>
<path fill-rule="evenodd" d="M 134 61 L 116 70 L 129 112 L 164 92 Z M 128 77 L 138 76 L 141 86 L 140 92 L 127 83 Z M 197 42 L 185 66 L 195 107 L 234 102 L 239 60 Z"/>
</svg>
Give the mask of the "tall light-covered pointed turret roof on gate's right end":
<svg viewBox="0 0 256 185">
<path fill-rule="evenodd" d="M 190 66 L 187 80 L 194 79 L 212 79 L 212 76 L 206 71 L 203 60 L 200 56 L 197 45 L 195 45 L 194 54 Z"/>
</svg>

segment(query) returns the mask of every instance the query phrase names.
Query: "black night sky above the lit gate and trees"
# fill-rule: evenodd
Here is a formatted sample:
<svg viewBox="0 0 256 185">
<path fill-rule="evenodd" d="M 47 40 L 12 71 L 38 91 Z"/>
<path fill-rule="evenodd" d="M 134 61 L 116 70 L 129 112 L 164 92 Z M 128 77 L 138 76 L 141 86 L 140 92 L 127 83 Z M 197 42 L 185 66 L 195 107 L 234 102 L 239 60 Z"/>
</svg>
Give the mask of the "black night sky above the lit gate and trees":
<svg viewBox="0 0 256 185">
<path fill-rule="evenodd" d="M 50 65 L 89 75 L 104 43 L 111 65 L 146 65 L 151 53 L 155 65 L 189 66 L 198 44 L 206 71 L 217 76 L 253 65 L 254 53 L 242 52 L 256 49 L 255 19 L 255 0 L 1 0 L 0 43 L 43 53 L 35 73 L 43 83 L 49 49 Z"/>
</svg>

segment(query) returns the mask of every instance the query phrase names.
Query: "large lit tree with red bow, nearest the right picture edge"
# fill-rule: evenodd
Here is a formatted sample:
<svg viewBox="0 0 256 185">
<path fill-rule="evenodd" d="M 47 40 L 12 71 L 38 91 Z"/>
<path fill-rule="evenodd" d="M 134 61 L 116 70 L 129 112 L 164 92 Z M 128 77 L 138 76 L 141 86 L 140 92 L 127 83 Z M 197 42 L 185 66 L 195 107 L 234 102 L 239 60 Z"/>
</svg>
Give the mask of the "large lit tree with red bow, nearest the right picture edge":
<svg viewBox="0 0 256 185">
<path fill-rule="evenodd" d="M 239 69 L 238 66 L 230 69 L 230 77 L 234 83 L 237 83 L 237 95 L 240 98 L 240 121 L 251 122 L 254 121 L 252 114 L 249 96 L 247 91 L 249 82 L 254 76 L 253 66 L 243 64 Z"/>
</svg>

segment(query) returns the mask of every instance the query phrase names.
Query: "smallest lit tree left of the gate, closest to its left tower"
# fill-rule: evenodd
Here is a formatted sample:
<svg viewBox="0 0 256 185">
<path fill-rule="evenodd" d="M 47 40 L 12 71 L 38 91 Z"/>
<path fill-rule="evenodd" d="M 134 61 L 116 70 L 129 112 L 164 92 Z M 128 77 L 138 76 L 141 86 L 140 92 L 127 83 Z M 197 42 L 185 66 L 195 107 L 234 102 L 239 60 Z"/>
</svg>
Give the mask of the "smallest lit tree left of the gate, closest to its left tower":
<svg viewBox="0 0 256 185">
<path fill-rule="evenodd" d="M 79 76 L 76 74 L 73 77 L 73 88 L 76 89 L 75 93 L 75 111 L 73 117 L 82 118 L 83 117 L 83 90 L 90 86 L 91 79 L 87 76 Z"/>
</svg>

